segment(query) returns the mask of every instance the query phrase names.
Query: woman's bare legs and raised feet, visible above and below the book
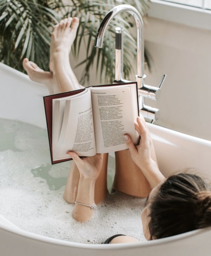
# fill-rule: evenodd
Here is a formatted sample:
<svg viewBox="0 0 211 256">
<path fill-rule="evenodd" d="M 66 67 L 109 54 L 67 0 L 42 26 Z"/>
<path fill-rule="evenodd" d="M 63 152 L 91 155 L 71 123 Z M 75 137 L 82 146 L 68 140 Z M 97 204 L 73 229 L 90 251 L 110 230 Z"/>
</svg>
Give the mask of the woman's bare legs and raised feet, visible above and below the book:
<svg viewBox="0 0 211 256">
<path fill-rule="evenodd" d="M 78 83 L 69 62 L 71 45 L 75 39 L 78 24 L 78 18 L 75 17 L 64 19 L 55 26 L 50 45 L 50 72 L 40 69 L 35 63 L 28 59 L 24 59 L 23 61 L 23 66 L 29 77 L 33 81 L 47 86 L 50 94 L 83 88 L 83 86 Z M 136 188 L 138 187 L 145 192 L 142 196 L 147 196 L 151 190 L 149 183 L 142 172 L 139 172 L 138 167 L 133 163 L 129 152 L 124 151 L 123 153 L 124 156 L 121 156 L 121 158 L 123 158 L 122 160 L 126 159 L 126 163 L 123 164 L 124 168 L 119 168 L 119 170 L 116 171 L 115 188 L 129 195 L 140 196 L 139 193 L 136 193 L 138 191 Z M 127 156 L 125 156 L 125 153 Z M 152 158 L 156 162 L 153 145 Z M 101 171 L 95 183 L 96 204 L 103 201 L 107 195 L 107 160 L 108 154 L 103 154 Z M 123 162 L 121 161 L 121 163 Z M 127 171 L 128 165 L 130 166 L 131 173 Z M 72 163 L 64 192 L 64 198 L 69 203 L 76 201 L 79 178 L 80 173 L 78 168 L 75 163 Z"/>
</svg>

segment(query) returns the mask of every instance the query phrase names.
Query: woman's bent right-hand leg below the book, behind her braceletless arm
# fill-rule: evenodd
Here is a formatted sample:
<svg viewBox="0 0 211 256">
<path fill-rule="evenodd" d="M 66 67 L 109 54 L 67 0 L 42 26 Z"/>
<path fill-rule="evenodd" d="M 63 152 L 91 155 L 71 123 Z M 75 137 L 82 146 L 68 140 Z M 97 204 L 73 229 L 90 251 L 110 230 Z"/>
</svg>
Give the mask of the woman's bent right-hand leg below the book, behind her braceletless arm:
<svg viewBox="0 0 211 256">
<path fill-rule="evenodd" d="M 140 116 L 141 121 L 145 124 L 148 136 L 151 137 L 149 130 L 146 126 L 145 119 Z M 158 164 L 154 146 L 151 148 L 152 159 Z M 146 197 L 152 190 L 149 182 L 139 169 L 139 167 L 133 162 L 130 157 L 129 150 L 122 150 L 115 152 L 116 158 L 116 172 L 114 177 L 113 187 L 123 193 L 132 196 Z"/>
</svg>

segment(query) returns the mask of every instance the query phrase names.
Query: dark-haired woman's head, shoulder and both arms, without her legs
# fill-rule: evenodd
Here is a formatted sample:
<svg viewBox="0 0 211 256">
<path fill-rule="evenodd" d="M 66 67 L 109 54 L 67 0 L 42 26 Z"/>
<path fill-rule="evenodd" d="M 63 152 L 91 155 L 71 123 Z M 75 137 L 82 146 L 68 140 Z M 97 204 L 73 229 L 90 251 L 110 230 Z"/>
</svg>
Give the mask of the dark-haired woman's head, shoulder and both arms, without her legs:
<svg viewBox="0 0 211 256">
<path fill-rule="evenodd" d="M 180 173 L 165 179 L 151 157 L 152 141 L 148 129 L 145 127 L 144 119 L 138 117 L 135 127 L 141 137 L 138 146 L 133 145 L 129 135 L 125 134 L 124 136 L 133 161 L 144 173 L 152 187 L 146 207 L 141 214 L 143 233 L 146 239 L 159 239 L 211 226 L 210 185 L 199 176 L 188 173 Z M 75 161 L 87 183 L 93 184 L 102 164 L 102 155 L 97 154 L 91 158 L 81 159 L 74 152 L 68 152 L 68 154 Z M 87 190 L 87 188 L 85 189 Z M 84 188 L 80 190 L 85 195 Z M 90 205 L 95 206 L 94 194 L 89 194 L 88 201 L 86 201 L 86 197 L 87 195 L 77 197 L 79 202 L 88 202 L 89 206 L 76 203 L 78 206 L 75 207 L 75 215 L 94 211 L 90 208 Z M 135 242 L 139 242 L 139 240 L 122 234 L 114 235 L 105 241 L 105 243 Z"/>
</svg>

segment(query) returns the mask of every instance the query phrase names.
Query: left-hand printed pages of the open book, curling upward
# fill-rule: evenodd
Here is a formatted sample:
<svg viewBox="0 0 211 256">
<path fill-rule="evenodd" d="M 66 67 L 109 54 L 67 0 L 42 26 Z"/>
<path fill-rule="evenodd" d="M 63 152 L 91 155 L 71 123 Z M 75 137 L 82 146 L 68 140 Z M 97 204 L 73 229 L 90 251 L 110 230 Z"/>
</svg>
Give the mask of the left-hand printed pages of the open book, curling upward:
<svg viewBox="0 0 211 256">
<path fill-rule="evenodd" d="M 68 151 L 74 151 L 79 156 L 96 154 L 89 89 L 79 97 L 66 100 L 57 156 L 54 160 L 70 158 L 66 154 Z"/>
</svg>

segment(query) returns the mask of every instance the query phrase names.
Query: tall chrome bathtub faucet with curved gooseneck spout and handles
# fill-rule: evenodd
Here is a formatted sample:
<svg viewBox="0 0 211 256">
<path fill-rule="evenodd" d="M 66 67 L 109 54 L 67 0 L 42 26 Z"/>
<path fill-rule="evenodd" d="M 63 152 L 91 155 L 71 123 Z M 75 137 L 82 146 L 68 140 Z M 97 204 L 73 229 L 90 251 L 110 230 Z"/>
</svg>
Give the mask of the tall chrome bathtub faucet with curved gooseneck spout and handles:
<svg viewBox="0 0 211 256">
<path fill-rule="evenodd" d="M 137 35 L 137 75 L 135 77 L 136 77 L 136 82 L 138 84 L 139 108 L 142 115 L 145 118 L 150 119 L 152 123 L 159 118 L 159 109 L 146 106 L 144 104 L 144 98 L 151 98 L 154 100 L 158 99 L 160 95 L 160 87 L 162 86 L 162 83 L 164 82 L 166 75 L 162 77 L 158 87 L 145 85 L 144 83 L 144 79 L 146 75 L 144 74 L 144 71 L 143 71 L 144 70 L 143 20 L 139 11 L 131 5 L 117 5 L 114 8 L 112 8 L 106 14 L 106 16 L 103 18 L 100 24 L 100 27 L 97 31 L 95 47 L 98 47 L 98 48 L 103 47 L 103 39 L 109 23 L 117 14 L 121 12 L 130 13 L 135 20 L 136 35 Z M 117 33 L 117 30 L 116 30 L 116 33 Z M 121 53 L 123 54 L 123 50 L 121 51 Z M 119 56 L 119 60 L 118 61 L 116 60 L 116 63 L 118 62 L 120 63 L 120 65 L 122 65 L 121 60 L 122 60 L 122 56 Z M 121 66 L 119 66 L 118 68 L 118 65 L 115 64 L 115 78 L 116 78 L 116 73 L 119 72 L 119 70 L 121 70 Z M 126 82 L 127 80 L 124 80 L 121 78 L 119 81 L 115 81 L 115 83 L 122 82 L 122 81 Z"/>
</svg>

